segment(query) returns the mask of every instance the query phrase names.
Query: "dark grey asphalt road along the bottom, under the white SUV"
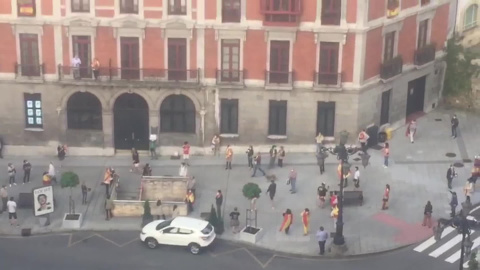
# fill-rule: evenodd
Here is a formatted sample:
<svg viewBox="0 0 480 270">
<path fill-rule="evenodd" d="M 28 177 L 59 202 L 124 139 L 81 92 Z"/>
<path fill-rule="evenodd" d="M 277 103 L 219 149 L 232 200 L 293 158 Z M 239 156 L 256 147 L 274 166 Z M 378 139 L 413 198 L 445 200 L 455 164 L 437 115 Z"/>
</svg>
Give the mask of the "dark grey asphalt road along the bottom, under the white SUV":
<svg viewBox="0 0 480 270">
<path fill-rule="evenodd" d="M 279 242 L 279 245 L 282 243 Z M 450 270 L 413 247 L 348 259 L 300 258 L 219 240 L 211 250 L 191 255 L 183 248 L 146 248 L 138 232 L 79 232 L 0 237 L 0 269 L 5 270 Z"/>
</svg>

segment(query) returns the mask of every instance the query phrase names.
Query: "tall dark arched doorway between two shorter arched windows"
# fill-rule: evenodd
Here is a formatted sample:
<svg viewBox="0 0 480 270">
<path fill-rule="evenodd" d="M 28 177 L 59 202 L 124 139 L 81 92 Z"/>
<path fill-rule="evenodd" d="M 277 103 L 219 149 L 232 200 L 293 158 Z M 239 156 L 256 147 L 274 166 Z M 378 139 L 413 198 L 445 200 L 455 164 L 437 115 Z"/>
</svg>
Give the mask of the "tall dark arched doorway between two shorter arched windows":
<svg viewBox="0 0 480 270">
<path fill-rule="evenodd" d="M 148 149 L 148 104 L 138 94 L 125 93 L 113 106 L 115 149 Z"/>
</svg>

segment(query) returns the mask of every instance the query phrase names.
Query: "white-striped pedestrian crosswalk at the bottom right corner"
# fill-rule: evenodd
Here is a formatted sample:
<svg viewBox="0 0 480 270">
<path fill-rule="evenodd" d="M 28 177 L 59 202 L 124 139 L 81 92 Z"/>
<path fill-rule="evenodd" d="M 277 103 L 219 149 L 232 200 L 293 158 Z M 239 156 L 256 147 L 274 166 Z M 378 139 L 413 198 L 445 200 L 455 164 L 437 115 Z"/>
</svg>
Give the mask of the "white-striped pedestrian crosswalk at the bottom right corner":
<svg viewBox="0 0 480 270">
<path fill-rule="evenodd" d="M 470 239 L 473 241 L 472 250 L 480 246 L 480 231 L 471 230 Z M 413 250 L 430 257 L 444 260 L 448 263 L 458 263 L 461 256 L 462 235 L 452 227 L 446 227 L 439 241 L 430 237 L 420 243 Z M 468 266 L 468 259 L 464 258 L 464 267 Z"/>
</svg>

